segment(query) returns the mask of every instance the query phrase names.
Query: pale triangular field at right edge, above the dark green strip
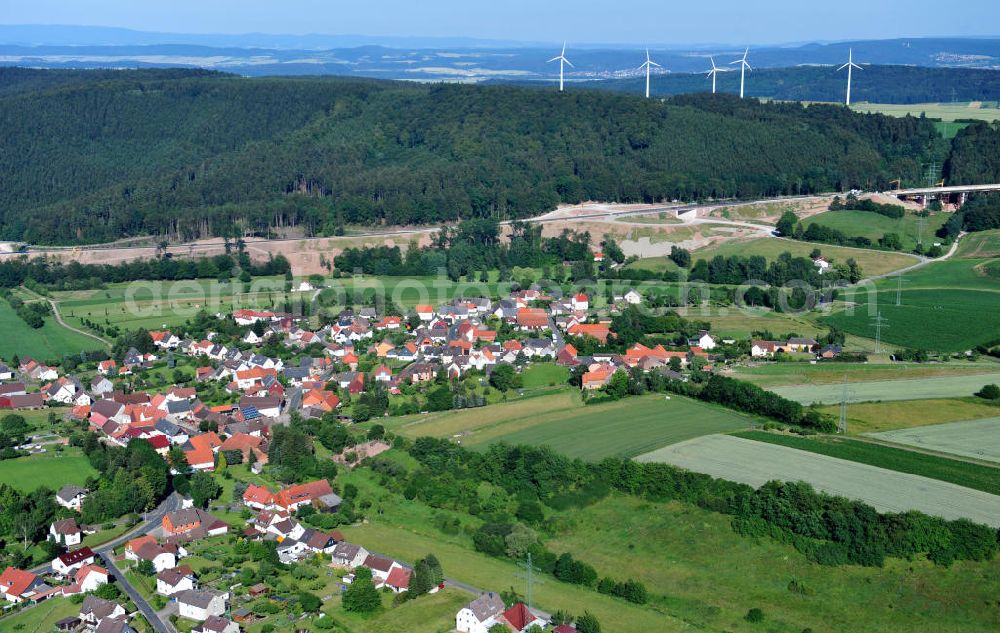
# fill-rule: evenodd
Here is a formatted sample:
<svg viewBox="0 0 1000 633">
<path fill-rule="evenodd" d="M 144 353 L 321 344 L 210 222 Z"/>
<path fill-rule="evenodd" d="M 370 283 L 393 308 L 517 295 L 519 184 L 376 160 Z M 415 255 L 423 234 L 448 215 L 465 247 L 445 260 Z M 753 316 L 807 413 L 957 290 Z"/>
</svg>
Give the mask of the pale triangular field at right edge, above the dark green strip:
<svg viewBox="0 0 1000 633">
<path fill-rule="evenodd" d="M 1000 417 L 886 431 L 872 437 L 1000 463 Z"/>
</svg>

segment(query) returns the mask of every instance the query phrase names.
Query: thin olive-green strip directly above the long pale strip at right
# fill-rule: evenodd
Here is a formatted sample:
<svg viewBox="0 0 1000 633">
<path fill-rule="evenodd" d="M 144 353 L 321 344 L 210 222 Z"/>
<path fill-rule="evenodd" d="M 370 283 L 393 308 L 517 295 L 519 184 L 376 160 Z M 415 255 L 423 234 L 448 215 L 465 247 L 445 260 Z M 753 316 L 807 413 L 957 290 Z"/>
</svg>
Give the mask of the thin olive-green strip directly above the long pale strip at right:
<svg viewBox="0 0 1000 633">
<path fill-rule="evenodd" d="M 779 386 L 840 385 L 847 382 L 915 380 L 948 376 L 974 376 L 1000 372 L 995 362 L 955 363 L 768 363 L 758 367 L 740 367 L 733 375 L 755 385 Z M 969 394 L 961 394 L 969 395 Z M 839 399 L 838 399 L 839 402 Z M 971 416 L 970 416 L 971 417 Z"/>
</svg>

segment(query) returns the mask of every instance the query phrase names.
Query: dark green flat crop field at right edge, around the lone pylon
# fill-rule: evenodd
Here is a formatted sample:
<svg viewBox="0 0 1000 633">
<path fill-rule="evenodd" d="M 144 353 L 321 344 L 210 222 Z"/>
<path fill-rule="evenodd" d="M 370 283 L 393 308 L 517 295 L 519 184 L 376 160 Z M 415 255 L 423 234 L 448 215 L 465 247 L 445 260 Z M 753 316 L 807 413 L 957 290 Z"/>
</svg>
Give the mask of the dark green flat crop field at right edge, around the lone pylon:
<svg viewBox="0 0 1000 633">
<path fill-rule="evenodd" d="M 841 311 L 820 322 L 845 332 L 875 337 L 873 317 L 881 313 L 882 340 L 913 349 L 959 352 L 1000 338 L 1000 292 L 981 290 L 903 290 L 855 296 L 853 314 Z M 874 301 L 874 304 L 872 304 Z"/>
</svg>

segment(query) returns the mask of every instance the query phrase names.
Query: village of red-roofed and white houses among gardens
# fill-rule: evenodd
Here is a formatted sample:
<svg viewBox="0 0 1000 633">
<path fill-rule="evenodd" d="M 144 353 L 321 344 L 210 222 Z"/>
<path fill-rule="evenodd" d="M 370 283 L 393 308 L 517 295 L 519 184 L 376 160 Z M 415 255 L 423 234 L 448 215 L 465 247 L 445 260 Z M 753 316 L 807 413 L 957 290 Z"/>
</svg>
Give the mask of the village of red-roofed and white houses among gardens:
<svg viewBox="0 0 1000 633">
<path fill-rule="evenodd" d="M 634 289 L 613 299 L 618 313 L 644 301 Z M 242 548 L 271 543 L 275 563 L 281 565 L 321 561 L 328 575 L 336 574 L 336 591 L 350 591 L 360 579 L 375 590 L 403 594 L 414 582 L 412 563 L 381 556 L 347 542 L 336 529 L 317 529 L 302 520 L 314 513 L 336 515 L 341 509 L 344 499 L 330 480 L 281 485 L 267 477 L 275 428 L 309 419 L 350 425 L 425 407 L 482 406 L 505 398 L 516 389 L 512 378 L 535 363 L 565 367 L 585 394 L 597 394 L 619 372 L 659 372 L 684 381 L 691 370 L 711 372 L 719 361 L 733 357 L 828 359 L 840 353 L 836 345 L 808 338 L 737 344 L 718 340 L 705 329 L 670 349 L 636 343 L 624 353 L 608 353 L 601 348 L 617 336 L 613 320 L 599 316 L 590 297 L 579 292 L 568 300 L 553 299 L 536 288 L 498 301 L 417 305 L 408 316 L 380 315 L 373 308 L 345 310 L 317 329 L 309 329 L 307 319 L 268 310 L 240 309 L 216 318 L 231 319 L 236 329 L 230 328 L 228 336 L 207 332 L 198 340 L 169 330 L 150 331 L 146 350 L 130 347 L 121 358 L 96 362 L 92 370 L 78 366 L 82 371 L 73 375 L 33 359 L 20 359 L 16 370 L 0 367 L 0 408 L 58 411 L 67 423 L 85 427 L 109 446 L 148 443 L 173 475 L 242 464 L 261 482 L 236 483 L 242 489 L 241 507 L 238 514 L 228 512 L 226 520 L 206 510 L 204 500 L 195 504 L 191 495 L 173 492 L 144 514 L 139 526 L 95 548 L 81 545 L 95 528 L 78 520 L 90 491 L 64 486 L 55 498 L 63 509 L 61 518 L 52 522 L 48 534 L 61 553 L 47 565 L 3 572 L 0 592 L 10 605 L 23 608 L 53 597 L 80 596 L 79 613 L 57 623 L 64 631 L 132 633 L 150 627 L 238 633 L 262 615 L 251 610 L 250 601 L 271 589 L 260 582 L 227 584 L 235 580 L 235 571 L 203 582 L 185 563 L 206 543 L 227 538 Z M 598 351 L 580 354 L 570 340 Z M 281 354 L 265 353 L 276 347 Z M 724 349 L 729 352 L 720 355 Z M 178 373 L 181 367 L 192 372 Z M 187 378 L 179 381 L 183 384 L 143 388 L 150 384 L 143 378 L 156 369 Z M 465 395 L 444 388 L 447 402 L 442 405 L 435 386 L 458 382 L 467 385 Z M 218 400 L 223 402 L 213 403 Z M 368 438 L 349 441 L 329 459 L 352 467 L 391 447 L 377 434 Z M 18 448 L 47 450 L 31 440 Z M 149 589 L 155 586 L 148 596 L 132 586 L 143 577 Z M 125 593 L 102 593 L 102 586 L 112 582 Z M 421 582 L 427 584 L 426 578 Z M 423 591 L 445 585 L 438 565 Z M 549 614 L 520 601 L 505 604 L 496 589 L 477 588 L 479 595 L 456 613 L 455 630 L 520 632 L 548 626 Z M 130 601 L 131 610 L 122 598 Z M 140 621 L 145 624 L 139 626 Z M 562 622 L 553 626 L 560 633 L 576 630 Z"/>
</svg>

